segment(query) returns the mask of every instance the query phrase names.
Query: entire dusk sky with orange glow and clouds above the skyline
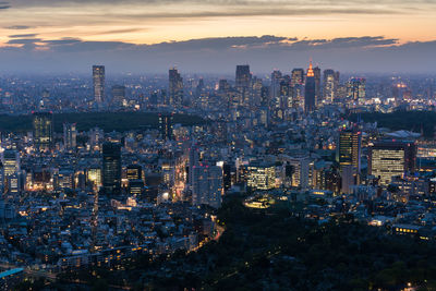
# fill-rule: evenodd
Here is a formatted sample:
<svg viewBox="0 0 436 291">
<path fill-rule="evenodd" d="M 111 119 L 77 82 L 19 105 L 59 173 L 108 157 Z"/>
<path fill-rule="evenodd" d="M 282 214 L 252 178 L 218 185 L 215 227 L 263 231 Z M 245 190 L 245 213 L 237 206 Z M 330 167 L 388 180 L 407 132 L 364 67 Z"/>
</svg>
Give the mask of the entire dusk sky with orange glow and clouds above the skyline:
<svg viewBox="0 0 436 291">
<path fill-rule="evenodd" d="M 0 72 L 435 73 L 436 0 L 0 0 Z"/>
</svg>

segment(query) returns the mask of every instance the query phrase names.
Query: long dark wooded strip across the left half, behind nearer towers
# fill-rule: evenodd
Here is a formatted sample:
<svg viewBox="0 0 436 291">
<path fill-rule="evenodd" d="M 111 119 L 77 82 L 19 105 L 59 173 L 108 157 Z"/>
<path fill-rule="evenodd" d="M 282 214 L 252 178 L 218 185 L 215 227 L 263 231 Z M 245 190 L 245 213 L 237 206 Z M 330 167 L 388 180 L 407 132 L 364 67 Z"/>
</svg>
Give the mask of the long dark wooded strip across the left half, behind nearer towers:
<svg viewBox="0 0 436 291">
<path fill-rule="evenodd" d="M 64 122 L 76 123 L 78 131 L 88 131 L 92 128 L 100 128 L 105 132 L 130 131 L 144 128 L 157 128 L 158 113 L 150 112 L 86 112 L 86 113 L 55 113 L 55 131 L 61 133 Z M 174 114 L 174 124 L 182 125 L 203 124 L 205 120 L 198 116 Z M 0 116 L 1 132 L 27 132 L 32 131 L 32 114 L 26 116 Z"/>
</svg>

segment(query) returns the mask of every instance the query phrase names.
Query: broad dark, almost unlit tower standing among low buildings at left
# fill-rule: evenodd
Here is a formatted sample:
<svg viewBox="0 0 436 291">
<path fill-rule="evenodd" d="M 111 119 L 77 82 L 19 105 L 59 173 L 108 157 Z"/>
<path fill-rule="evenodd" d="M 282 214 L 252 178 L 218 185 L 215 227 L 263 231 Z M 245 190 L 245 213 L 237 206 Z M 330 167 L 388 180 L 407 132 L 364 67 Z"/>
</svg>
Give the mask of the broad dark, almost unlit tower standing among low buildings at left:
<svg viewBox="0 0 436 291">
<path fill-rule="evenodd" d="M 107 194 L 117 194 L 121 189 L 121 145 L 102 144 L 102 186 Z"/>
</svg>

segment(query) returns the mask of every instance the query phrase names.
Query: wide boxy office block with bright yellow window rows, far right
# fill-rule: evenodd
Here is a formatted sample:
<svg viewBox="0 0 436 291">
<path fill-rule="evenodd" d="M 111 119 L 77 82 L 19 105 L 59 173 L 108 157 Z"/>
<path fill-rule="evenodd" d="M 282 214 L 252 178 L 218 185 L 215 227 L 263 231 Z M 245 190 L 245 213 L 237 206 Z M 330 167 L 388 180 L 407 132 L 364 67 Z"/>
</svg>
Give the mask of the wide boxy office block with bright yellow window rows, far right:
<svg viewBox="0 0 436 291">
<path fill-rule="evenodd" d="M 388 185 L 392 177 L 413 173 L 416 146 L 413 142 L 378 142 L 370 147 L 368 174 L 379 178 L 380 185 Z"/>
</svg>

